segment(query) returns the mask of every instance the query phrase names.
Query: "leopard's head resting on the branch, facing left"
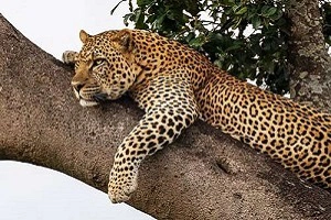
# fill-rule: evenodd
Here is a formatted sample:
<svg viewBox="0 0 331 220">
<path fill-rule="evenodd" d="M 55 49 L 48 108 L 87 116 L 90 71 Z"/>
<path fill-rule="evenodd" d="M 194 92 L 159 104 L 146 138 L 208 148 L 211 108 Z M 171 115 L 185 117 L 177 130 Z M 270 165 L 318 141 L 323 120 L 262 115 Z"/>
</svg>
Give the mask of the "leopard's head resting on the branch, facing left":
<svg viewBox="0 0 331 220">
<path fill-rule="evenodd" d="M 89 35 L 79 33 L 83 48 L 72 79 L 75 96 L 84 107 L 121 97 L 135 82 L 139 68 L 132 58 L 129 30 Z"/>
</svg>

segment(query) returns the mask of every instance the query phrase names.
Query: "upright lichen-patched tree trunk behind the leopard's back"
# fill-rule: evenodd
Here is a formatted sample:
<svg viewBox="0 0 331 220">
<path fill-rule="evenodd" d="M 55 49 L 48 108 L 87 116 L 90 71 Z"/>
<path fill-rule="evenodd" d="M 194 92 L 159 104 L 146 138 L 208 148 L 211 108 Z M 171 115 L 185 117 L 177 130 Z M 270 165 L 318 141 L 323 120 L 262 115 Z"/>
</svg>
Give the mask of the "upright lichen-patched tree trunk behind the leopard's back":
<svg viewBox="0 0 331 220">
<path fill-rule="evenodd" d="M 320 20 L 319 0 L 289 0 L 291 98 L 331 112 L 331 58 Z"/>
</svg>

